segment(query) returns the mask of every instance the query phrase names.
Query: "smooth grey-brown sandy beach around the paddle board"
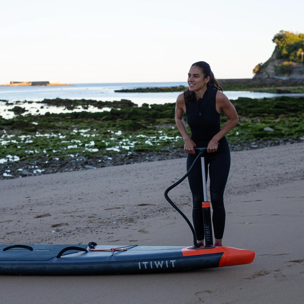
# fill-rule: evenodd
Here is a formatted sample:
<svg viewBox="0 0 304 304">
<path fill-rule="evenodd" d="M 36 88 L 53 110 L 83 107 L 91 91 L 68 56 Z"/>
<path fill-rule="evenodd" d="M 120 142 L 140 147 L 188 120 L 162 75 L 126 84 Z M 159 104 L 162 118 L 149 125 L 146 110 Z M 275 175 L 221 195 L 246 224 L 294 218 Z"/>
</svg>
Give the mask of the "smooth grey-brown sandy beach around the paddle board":
<svg viewBox="0 0 304 304">
<path fill-rule="evenodd" d="M 3 303 L 302 303 L 304 143 L 231 152 L 223 245 L 249 265 L 154 275 L 1 276 Z M 192 245 L 164 199 L 185 158 L 0 182 L 1 244 Z M 169 193 L 191 218 L 184 181 Z"/>
</svg>

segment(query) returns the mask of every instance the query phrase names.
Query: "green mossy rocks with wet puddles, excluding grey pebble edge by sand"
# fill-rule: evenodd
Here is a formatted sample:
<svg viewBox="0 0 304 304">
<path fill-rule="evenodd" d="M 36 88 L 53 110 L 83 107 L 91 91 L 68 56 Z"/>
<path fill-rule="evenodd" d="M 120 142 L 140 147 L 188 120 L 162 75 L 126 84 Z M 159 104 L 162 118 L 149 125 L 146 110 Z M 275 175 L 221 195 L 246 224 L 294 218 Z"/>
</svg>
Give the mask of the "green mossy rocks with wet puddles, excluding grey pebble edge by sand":
<svg viewBox="0 0 304 304">
<path fill-rule="evenodd" d="M 227 134 L 229 143 L 254 140 L 303 139 L 304 98 L 238 98 L 237 126 Z M 20 161 L 54 157 L 95 158 L 133 151 L 183 147 L 174 121 L 174 103 L 143 104 L 110 112 L 72 112 L 0 117 L 0 158 L 16 155 Z M 226 117 L 221 116 L 222 125 Z"/>
</svg>

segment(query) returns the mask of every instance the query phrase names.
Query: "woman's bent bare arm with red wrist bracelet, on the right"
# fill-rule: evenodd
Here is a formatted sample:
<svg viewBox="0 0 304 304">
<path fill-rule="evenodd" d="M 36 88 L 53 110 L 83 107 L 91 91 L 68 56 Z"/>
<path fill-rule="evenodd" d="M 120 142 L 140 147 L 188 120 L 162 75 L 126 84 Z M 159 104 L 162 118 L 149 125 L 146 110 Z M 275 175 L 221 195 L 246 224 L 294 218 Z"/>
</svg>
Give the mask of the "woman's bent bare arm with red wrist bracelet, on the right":
<svg viewBox="0 0 304 304">
<path fill-rule="evenodd" d="M 218 91 L 216 93 L 216 110 L 219 109 L 219 112 L 223 110 L 225 116 L 228 118 L 228 121 L 225 123 L 223 128 L 216 133 L 210 140 L 207 148 L 207 152 L 214 152 L 217 150 L 217 144 L 219 140 L 225 136 L 239 121 L 239 116 L 233 104 L 230 102 L 228 97 L 222 92 Z"/>
</svg>

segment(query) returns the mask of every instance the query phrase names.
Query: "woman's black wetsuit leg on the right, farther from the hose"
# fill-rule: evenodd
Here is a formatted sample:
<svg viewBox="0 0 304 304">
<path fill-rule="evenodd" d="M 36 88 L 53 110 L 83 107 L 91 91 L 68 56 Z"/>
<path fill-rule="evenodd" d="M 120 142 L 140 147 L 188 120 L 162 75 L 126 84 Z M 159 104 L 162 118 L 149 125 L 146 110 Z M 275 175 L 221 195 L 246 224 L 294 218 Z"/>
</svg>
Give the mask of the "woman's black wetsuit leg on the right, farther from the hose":
<svg viewBox="0 0 304 304">
<path fill-rule="evenodd" d="M 223 147 L 224 146 L 224 147 Z M 212 223 L 214 237 L 222 239 L 225 228 L 224 190 L 230 170 L 230 151 L 228 143 L 223 143 L 221 151 L 210 155 L 209 177 L 210 197 L 212 205 Z"/>
</svg>

